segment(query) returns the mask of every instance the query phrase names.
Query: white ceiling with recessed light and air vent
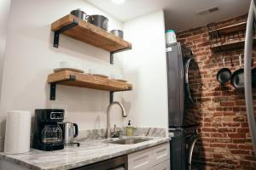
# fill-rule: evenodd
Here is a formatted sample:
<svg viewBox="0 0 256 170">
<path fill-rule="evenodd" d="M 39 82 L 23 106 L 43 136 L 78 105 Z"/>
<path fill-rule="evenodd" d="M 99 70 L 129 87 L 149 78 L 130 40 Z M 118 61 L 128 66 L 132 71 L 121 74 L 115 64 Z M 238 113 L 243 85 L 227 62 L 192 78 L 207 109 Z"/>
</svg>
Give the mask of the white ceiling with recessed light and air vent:
<svg viewBox="0 0 256 170">
<path fill-rule="evenodd" d="M 126 0 L 123 4 L 114 4 L 111 0 L 87 0 L 87 2 L 122 22 L 163 8 L 166 28 L 182 31 L 246 14 L 250 0 Z M 196 14 L 197 11 L 216 6 L 219 8 L 218 12 Z"/>
</svg>

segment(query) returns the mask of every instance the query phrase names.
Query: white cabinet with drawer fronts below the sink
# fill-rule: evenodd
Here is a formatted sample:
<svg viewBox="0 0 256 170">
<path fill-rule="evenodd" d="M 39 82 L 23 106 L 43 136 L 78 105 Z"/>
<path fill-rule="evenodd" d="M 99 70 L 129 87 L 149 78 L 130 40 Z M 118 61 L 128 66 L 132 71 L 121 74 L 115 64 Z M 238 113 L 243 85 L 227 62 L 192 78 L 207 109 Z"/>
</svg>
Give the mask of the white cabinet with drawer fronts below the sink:
<svg viewBox="0 0 256 170">
<path fill-rule="evenodd" d="M 166 143 L 129 154 L 128 170 L 170 170 L 169 153 L 170 144 Z M 164 162 L 168 162 L 169 167 Z"/>
</svg>

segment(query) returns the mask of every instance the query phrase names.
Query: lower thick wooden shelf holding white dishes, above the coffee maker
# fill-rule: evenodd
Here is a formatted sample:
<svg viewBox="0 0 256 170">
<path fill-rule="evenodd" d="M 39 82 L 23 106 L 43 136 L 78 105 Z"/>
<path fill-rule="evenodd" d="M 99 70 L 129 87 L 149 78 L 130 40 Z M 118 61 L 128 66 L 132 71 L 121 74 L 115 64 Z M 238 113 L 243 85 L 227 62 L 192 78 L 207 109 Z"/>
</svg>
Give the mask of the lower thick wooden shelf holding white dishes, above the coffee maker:
<svg viewBox="0 0 256 170">
<path fill-rule="evenodd" d="M 70 77 L 75 77 L 75 81 Z M 110 92 L 132 90 L 132 84 L 119 82 L 108 78 L 96 77 L 89 74 L 82 74 L 73 71 L 59 71 L 48 76 L 48 83 L 56 83 L 79 88 L 92 88 Z"/>
</svg>

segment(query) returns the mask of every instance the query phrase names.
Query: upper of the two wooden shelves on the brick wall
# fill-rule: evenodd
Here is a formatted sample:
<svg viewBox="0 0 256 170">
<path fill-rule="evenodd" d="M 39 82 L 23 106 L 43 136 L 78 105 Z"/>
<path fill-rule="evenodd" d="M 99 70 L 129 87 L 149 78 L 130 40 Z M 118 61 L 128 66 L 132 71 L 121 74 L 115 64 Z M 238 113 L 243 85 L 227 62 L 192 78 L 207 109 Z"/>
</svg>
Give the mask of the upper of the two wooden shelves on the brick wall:
<svg viewBox="0 0 256 170">
<path fill-rule="evenodd" d="M 246 28 L 247 28 L 247 22 L 241 22 L 235 25 L 224 26 L 222 28 L 211 30 L 209 31 L 209 34 L 214 35 L 217 32 L 218 35 L 222 36 L 222 35 L 231 34 L 233 32 L 245 31 Z"/>
</svg>

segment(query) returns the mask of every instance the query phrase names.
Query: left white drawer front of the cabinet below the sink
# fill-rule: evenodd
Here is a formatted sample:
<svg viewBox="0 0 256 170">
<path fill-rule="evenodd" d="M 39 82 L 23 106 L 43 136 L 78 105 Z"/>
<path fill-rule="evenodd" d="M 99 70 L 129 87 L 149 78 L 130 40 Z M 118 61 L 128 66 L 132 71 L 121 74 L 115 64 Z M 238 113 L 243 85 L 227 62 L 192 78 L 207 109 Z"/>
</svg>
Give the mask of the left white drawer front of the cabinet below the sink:
<svg viewBox="0 0 256 170">
<path fill-rule="evenodd" d="M 128 155 L 128 170 L 148 170 L 154 166 L 152 149 L 137 151 Z"/>
</svg>

